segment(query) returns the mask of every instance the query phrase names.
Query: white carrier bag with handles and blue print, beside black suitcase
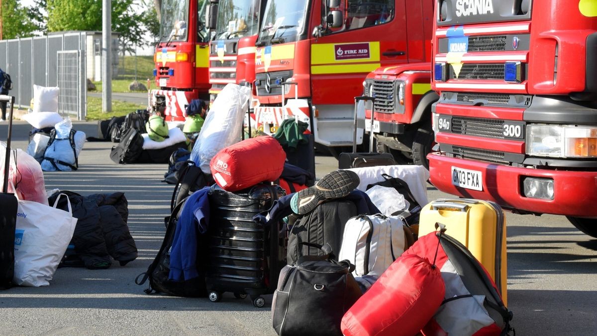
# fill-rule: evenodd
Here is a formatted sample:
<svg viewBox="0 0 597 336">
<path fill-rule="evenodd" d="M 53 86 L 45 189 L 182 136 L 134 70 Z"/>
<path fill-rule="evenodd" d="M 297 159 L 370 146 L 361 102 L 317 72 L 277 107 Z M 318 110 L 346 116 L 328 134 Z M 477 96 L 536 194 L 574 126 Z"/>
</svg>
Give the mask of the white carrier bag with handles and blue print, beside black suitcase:
<svg viewBox="0 0 597 336">
<path fill-rule="evenodd" d="M 19 286 L 47 286 L 73 237 L 76 218 L 69 211 L 19 200 L 14 239 L 14 282 Z M 67 197 L 68 199 L 68 197 Z"/>
</svg>

